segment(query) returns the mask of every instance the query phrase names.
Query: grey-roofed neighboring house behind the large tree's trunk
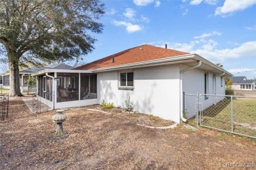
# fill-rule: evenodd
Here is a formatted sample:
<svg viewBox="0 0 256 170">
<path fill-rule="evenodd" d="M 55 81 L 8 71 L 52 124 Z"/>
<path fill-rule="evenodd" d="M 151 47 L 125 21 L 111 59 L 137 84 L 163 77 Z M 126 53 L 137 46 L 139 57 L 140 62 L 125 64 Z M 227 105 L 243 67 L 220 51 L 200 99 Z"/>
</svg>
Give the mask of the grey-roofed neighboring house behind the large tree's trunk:
<svg viewBox="0 0 256 170">
<path fill-rule="evenodd" d="M 43 69 L 72 69 L 70 65 L 66 65 L 64 63 L 56 64 L 56 65 L 48 65 L 47 67 L 30 67 L 28 69 L 22 69 L 19 71 L 20 76 L 20 90 L 22 92 L 28 92 L 28 78 L 29 75 L 33 73 L 37 73 Z M 3 88 L 10 89 L 10 73 L 3 74 Z"/>
</svg>

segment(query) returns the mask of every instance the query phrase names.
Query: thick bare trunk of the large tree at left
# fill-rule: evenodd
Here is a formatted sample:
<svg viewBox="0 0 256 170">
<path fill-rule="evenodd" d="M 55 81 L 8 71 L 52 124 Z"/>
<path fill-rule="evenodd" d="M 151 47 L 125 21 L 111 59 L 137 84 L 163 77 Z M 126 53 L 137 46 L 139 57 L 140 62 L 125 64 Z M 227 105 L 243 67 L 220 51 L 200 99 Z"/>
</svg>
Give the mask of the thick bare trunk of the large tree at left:
<svg viewBox="0 0 256 170">
<path fill-rule="evenodd" d="M 9 96 L 22 96 L 20 92 L 20 76 L 18 70 L 18 60 L 20 56 L 14 50 L 7 50 L 10 71 L 10 92 Z"/>
</svg>

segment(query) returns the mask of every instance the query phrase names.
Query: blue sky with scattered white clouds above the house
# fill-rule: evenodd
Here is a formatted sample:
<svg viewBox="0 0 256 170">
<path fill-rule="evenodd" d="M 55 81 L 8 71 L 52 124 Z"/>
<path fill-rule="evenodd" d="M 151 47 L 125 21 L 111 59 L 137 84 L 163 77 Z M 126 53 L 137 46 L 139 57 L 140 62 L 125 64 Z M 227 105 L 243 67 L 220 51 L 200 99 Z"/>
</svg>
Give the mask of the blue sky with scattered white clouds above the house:
<svg viewBox="0 0 256 170">
<path fill-rule="evenodd" d="M 102 1 L 94 61 L 141 44 L 199 54 L 234 76 L 256 78 L 256 0 Z"/>
</svg>

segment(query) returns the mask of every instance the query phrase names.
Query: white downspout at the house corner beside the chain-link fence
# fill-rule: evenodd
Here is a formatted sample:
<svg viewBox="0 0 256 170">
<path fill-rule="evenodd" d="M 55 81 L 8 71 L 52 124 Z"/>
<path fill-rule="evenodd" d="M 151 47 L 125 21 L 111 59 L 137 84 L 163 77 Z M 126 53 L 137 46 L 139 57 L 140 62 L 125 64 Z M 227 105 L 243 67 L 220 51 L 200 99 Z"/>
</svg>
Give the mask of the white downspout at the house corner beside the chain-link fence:
<svg viewBox="0 0 256 170">
<path fill-rule="evenodd" d="M 188 67 L 188 68 L 186 68 L 186 69 L 183 69 L 181 72 L 180 72 L 180 110 L 181 110 L 181 120 L 183 121 L 183 122 L 186 122 L 186 119 L 183 117 L 183 80 L 182 80 L 182 77 L 183 77 L 183 73 L 185 72 L 185 71 L 190 71 L 190 70 L 192 70 L 192 69 L 196 69 L 196 68 L 198 68 L 198 67 L 200 67 L 200 65 L 202 64 L 202 61 L 201 60 L 199 60 L 198 61 L 198 64 L 197 65 L 194 65 L 194 66 L 192 66 L 192 67 Z"/>
</svg>

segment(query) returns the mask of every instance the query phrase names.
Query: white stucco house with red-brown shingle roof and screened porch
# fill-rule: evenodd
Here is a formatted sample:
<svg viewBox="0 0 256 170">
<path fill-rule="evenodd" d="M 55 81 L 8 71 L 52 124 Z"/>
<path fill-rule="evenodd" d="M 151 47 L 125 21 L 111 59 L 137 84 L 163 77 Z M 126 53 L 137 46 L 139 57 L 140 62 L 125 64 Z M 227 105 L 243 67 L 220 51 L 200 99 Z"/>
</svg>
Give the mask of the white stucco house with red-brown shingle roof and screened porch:
<svg viewBox="0 0 256 170">
<path fill-rule="evenodd" d="M 198 54 L 145 44 L 70 71 L 44 70 L 34 76 L 45 93 L 54 92 L 54 109 L 103 100 L 125 107 L 130 97 L 137 112 L 180 122 L 183 92 L 224 95 L 223 76 L 232 74 Z M 85 88 L 89 92 L 85 93 Z M 60 89 L 67 95 L 64 99 Z"/>
</svg>

